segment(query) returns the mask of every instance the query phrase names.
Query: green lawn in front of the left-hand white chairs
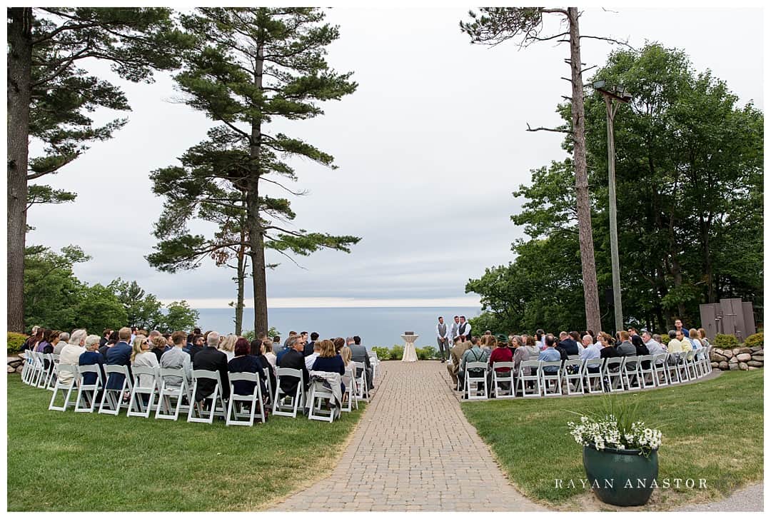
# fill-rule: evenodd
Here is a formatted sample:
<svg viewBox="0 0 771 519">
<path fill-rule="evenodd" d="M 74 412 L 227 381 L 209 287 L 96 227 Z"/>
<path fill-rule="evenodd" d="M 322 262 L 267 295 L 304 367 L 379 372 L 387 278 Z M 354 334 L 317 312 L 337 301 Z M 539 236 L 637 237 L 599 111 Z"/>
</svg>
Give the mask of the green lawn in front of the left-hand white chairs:
<svg viewBox="0 0 771 519">
<path fill-rule="evenodd" d="M 361 416 L 215 421 L 49 411 L 8 376 L 8 511 L 248 511 L 331 470 Z"/>
</svg>

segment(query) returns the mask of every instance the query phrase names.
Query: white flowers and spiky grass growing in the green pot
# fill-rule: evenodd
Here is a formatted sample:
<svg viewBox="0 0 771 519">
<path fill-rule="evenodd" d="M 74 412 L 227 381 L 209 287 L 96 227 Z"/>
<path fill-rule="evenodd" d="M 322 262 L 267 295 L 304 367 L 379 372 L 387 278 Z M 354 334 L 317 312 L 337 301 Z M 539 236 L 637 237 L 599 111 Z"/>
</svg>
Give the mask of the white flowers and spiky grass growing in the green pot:
<svg viewBox="0 0 771 519">
<path fill-rule="evenodd" d="M 636 402 L 630 404 L 628 400 L 608 398 L 599 415 L 579 416 L 580 422 L 568 422 L 567 426 L 576 443 L 584 447 L 638 450 L 648 457 L 662 444 L 662 432 L 646 427 L 645 422 L 638 420 Z"/>
</svg>

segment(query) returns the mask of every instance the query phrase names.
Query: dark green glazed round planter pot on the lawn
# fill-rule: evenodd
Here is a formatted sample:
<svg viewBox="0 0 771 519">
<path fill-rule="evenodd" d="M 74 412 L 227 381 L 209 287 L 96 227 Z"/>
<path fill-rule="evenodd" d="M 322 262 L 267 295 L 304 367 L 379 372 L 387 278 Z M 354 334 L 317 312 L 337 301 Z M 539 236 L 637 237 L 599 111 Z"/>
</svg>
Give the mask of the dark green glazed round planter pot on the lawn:
<svg viewBox="0 0 771 519">
<path fill-rule="evenodd" d="M 597 450 L 584 447 L 584 470 L 603 503 L 618 507 L 636 507 L 648 502 L 658 478 L 658 450 L 648 457 L 638 450 Z"/>
</svg>

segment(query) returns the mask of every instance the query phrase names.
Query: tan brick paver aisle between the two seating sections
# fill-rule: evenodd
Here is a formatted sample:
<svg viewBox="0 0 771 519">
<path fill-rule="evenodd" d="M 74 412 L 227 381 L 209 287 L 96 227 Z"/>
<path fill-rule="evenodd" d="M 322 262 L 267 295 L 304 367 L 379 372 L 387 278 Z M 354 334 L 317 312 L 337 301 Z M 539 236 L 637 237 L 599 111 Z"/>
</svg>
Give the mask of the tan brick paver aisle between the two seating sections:
<svg viewBox="0 0 771 519">
<path fill-rule="evenodd" d="M 443 362 L 379 369 L 377 392 L 332 475 L 273 510 L 545 510 L 503 477 L 460 411 Z"/>
</svg>

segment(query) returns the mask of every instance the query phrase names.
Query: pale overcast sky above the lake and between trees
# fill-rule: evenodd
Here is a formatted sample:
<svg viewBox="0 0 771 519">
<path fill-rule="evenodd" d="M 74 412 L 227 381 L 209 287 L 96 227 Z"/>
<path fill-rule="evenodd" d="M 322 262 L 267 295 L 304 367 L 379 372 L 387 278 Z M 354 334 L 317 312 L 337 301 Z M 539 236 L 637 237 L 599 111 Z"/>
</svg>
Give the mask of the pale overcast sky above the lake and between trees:
<svg viewBox="0 0 771 519">
<path fill-rule="evenodd" d="M 299 177 L 292 188 L 309 192 L 291 201 L 296 227 L 362 241 L 351 254 L 298 258 L 304 268 L 268 252 L 268 261 L 281 263 L 268 272 L 269 305 L 476 305 L 478 298 L 464 294 L 466 281 L 511 261 L 510 244 L 524 235 L 510 222 L 521 204 L 511 192 L 530 181 L 531 169 L 565 157 L 561 134 L 525 129 L 527 123 L 560 122 L 554 110 L 570 93 L 560 79 L 569 74 L 563 62 L 568 49 L 470 45 L 458 28 L 467 11 L 329 12 L 341 38 L 329 47 L 328 61 L 339 72 L 355 72 L 359 89 L 325 103 L 325 116 L 277 127 L 331 153 L 338 165 L 328 170 L 292 162 Z M 725 80 L 740 103 L 752 99 L 763 109 L 760 9 L 588 8 L 581 33 L 682 49 L 697 71 L 709 68 Z M 602 66 L 611 49 L 584 40 L 583 61 Z M 178 93 L 170 76 L 159 75 L 152 85 L 109 77 L 125 89 L 130 122 L 60 174 L 42 179 L 79 196 L 72 204 L 33 207 L 29 224 L 36 229 L 28 244 L 80 245 L 93 259 L 78 265 L 76 275 L 89 283 L 120 276 L 163 301 L 227 306 L 235 294 L 231 269 L 204 262 L 170 275 L 144 259 L 162 204 L 148 174 L 177 164 L 176 157 L 204 140 L 211 122 L 173 102 Z M 210 228 L 191 226 L 203 233 Z"/>
</svg>

